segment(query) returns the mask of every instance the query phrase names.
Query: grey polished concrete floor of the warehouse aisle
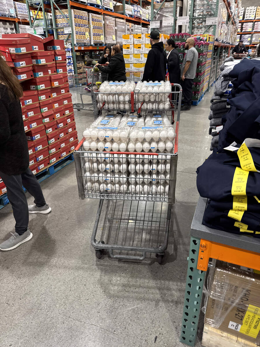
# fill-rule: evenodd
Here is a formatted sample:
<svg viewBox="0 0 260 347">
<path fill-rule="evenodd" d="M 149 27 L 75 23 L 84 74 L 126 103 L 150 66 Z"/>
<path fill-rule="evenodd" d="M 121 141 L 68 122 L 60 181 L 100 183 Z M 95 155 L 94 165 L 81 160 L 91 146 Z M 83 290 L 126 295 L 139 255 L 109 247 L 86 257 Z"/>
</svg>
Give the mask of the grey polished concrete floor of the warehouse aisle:
<svg viewBox="0 0 260 347">
<path fill-rule="evenodd" d="M 90 238 L 98 200 L 78 199 L 70 164 L 41 184 L 52 212 L 30 215 L 32 240 L 0 253 L 0 347 L 184 346 L 179 338 L 190 226 L 199 197 L 196 169 L 210 153 L 211 94 L 181 112 L 167 263 L 159 265 L 154 256 L 143 262 L 96 259 Z M 93 116 L 75 111 L 75 119 L 81 138 Z M 0 210 L 0 221 L 2 242 L 14 230 L 10 204 Z M 203 321 L 200 340 L 202 329 Z"/>
</svg>

